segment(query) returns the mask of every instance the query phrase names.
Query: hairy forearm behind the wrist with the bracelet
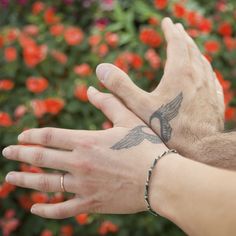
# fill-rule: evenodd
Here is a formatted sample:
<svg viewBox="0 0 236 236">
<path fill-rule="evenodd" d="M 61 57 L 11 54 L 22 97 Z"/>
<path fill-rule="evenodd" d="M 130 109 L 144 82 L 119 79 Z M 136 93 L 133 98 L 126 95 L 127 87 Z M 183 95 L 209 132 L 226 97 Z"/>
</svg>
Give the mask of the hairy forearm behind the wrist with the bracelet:
<svg viewBox="0 0 236 236">
<path fill-rule="evenodd" d="M 236 132 L 203 138 L 188 154 L 186 156 L 205 164 L 236 170 Z"/>
</svg>

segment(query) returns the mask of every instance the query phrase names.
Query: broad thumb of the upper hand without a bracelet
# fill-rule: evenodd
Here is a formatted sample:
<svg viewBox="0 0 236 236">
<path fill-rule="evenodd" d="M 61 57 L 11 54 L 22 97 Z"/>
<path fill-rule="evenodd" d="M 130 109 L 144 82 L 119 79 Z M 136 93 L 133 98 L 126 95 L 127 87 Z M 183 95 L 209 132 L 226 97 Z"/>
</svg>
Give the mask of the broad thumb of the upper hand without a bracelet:
<svg viewBox="0 0 236 236">
<path fill-rule="evenodd" d="M 129 76 L 118 67 L 109 63 L 102 63 L 98 65 L 96 73 L 104 86 L 134 112 L 148 105 L 148 93 L 138 88 Z"/>
</svg>

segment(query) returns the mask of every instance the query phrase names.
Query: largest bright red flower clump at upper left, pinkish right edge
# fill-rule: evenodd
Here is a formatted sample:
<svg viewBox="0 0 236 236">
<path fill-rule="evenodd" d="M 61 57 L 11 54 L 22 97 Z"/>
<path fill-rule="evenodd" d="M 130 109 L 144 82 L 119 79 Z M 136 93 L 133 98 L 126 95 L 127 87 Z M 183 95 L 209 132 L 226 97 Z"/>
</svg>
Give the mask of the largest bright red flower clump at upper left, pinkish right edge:
<svg viewBox="0 0 236 236">
<path fill-rule="evenodd" d="M 35 67 L 37 64 L 42 62 L 47 54 L 46 45 L 36 45 L 35 43 L 30 43 L 29 45 L 24 45 L 23 57 L 25 64 L 28 67 Z"/>
</svg>

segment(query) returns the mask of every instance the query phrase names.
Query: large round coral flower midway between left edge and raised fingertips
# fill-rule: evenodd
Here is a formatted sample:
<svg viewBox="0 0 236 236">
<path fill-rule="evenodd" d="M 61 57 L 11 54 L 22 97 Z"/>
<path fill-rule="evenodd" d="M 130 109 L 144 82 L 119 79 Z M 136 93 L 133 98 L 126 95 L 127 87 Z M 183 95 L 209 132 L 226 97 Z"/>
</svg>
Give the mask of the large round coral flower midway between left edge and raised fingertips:
<svg viewBox="0 0 236 236">
<path fill-rule="evenodd" d="M 80 28 L 71 26 L 65 30 L 64 38 L 69 45 L 78 45 L 82 42 L 84 33 Z"/>
</svg>

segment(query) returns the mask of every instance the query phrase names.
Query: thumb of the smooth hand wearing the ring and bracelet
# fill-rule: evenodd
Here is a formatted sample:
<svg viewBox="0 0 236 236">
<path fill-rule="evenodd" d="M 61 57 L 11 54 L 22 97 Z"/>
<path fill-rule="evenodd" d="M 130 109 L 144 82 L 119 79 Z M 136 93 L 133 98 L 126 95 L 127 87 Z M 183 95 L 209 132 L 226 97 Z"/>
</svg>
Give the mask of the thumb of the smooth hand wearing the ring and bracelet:
<svg viewBox="0 0 236 236">
<path fill-rule="evenodd" d="M 115 96 L 101 93 L 94 87 L 88 89 L 89 101 L 114 124 L 114 126 L 130 127 L 140 119 L 133 115 Z"/>
</svg>

